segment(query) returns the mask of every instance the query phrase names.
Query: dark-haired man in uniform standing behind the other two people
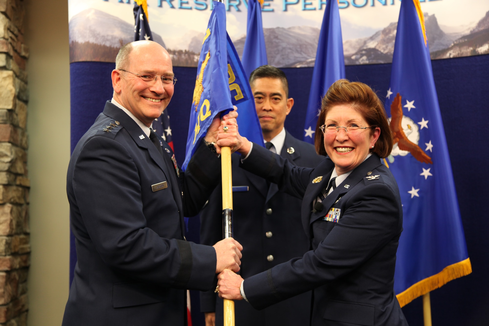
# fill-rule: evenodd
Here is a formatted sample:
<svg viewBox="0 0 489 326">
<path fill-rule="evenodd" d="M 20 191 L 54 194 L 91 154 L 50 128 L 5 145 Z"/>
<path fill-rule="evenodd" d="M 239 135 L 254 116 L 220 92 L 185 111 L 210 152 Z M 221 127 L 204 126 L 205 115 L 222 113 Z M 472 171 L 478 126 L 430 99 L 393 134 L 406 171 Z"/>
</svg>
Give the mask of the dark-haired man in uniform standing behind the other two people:
<svg viewBox="0 0 489 326">
<path fill-rule="evenodd" d="M 294 104 L 289 98 L 285 73 L 261 66 L 249 78 L 266 147 L 299 166 L 315 167 L 323 158 L 314 146 L 292 137 L 284 128 Z M 238 112 L 239 113 L 239 112 Z M 267 184 L 239 167 L 241 156 L 233 154 L 233 229 L 243 245 L 241 276 L 257 273 L 303 256 L 310 244 L 302 229 L 301 200 Z M 333 168 L 333 163 L 332 163 Z M 200 213 L 200 243 L 213 245 L 222 239 L 222 186 L 216 187 Z M 309 325 L 311 292 L 258 311 L 243 301 L 235 302 L 236 326 Z M 222 325 L 222 299 L 214 291 L 201 292 L 200 310 L 206 326 Z"/>
</svg>

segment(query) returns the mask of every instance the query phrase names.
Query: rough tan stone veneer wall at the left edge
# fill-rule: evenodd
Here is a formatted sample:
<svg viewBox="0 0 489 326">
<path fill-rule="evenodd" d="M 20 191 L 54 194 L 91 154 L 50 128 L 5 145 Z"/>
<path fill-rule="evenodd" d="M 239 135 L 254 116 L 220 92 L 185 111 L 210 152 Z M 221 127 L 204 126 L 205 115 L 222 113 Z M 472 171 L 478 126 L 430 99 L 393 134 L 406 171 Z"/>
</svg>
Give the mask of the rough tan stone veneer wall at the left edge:
<svg viewBox="0 0 489 326">
<path fill-rule="evenodd" d="M 24 1 L 0 0 L 0 325 L 27 320 L 29 179 Z"/>
</svg>

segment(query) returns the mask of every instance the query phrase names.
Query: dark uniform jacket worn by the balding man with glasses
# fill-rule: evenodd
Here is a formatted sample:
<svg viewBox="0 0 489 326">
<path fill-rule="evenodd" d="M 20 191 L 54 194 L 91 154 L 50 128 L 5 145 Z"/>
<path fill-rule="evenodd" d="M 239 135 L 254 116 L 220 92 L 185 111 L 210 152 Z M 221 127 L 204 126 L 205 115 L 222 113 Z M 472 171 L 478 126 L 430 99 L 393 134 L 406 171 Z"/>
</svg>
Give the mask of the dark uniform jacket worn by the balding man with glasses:
<svg viewBox="0 0 489 326">
<path fill-rule="evenodd" d="M 219 182 L 220 160 L 201 146 L 178 177 L 160 141 L 163 156 L 107 102 L 73 151 L 67 195 L 78 262 L 63 325 L 184 325 L 186 289 L 213 286 L 216 252 L 185 241 L 183 216 L 197 214 Z"/>
</svg>

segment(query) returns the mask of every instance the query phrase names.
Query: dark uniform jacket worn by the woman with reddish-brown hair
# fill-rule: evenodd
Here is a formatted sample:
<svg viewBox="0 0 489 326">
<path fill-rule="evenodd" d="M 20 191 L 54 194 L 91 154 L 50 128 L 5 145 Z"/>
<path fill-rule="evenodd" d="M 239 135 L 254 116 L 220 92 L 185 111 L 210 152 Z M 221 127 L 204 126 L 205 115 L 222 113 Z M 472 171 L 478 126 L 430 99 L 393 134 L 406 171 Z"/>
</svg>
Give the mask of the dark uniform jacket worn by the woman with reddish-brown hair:
<svg viewBox="0 0 489 326">
<path fill-rule="evenodd" d="M 312 246 L 304 256 L 244 280 L 253 307 L 314 289 L 311 325 L 407 325 L 393 290 L 402 231 L 399 189 L 378 155 L 357 166 L 316 212 L 312 202 L 332 174 L 327 161 L 301 168 L 253 146 L 241 166 L 304 198 L 302 225 Z"/>
</svg>

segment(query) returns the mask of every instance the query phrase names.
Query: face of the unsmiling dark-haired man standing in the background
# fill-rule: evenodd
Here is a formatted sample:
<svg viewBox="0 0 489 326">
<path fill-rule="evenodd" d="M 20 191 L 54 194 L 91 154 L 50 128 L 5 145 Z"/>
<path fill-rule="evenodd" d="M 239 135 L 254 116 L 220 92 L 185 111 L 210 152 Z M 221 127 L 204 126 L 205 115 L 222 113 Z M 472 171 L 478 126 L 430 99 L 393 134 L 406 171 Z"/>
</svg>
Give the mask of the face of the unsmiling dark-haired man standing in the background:
<svg viewBox="0 0 489 326">
<path fill-rule="evenodd" d="M 294 99 L 287 98 L 279 78 L 257 78 L 251 83 L 251 92 L 255 97 L 263 138 L 270 141 L 284 128 L 285 117 L 290 113 Z"/>
</svg>

